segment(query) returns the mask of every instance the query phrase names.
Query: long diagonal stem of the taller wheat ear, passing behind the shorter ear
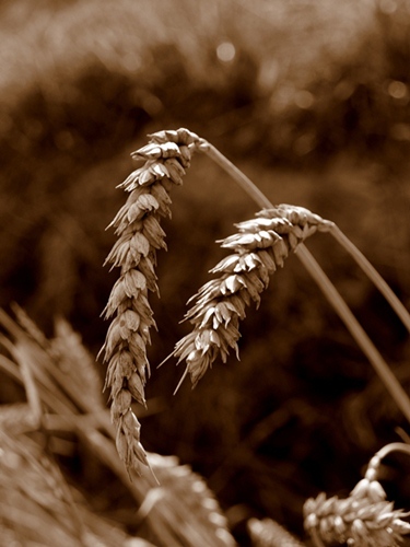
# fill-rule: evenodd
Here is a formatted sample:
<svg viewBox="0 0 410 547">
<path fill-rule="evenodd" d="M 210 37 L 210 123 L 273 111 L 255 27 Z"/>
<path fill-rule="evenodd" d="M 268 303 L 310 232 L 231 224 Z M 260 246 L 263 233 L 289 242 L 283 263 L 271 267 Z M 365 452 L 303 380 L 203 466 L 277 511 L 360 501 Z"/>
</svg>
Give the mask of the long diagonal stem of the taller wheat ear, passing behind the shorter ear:
<svg viewBox="0 0 410 547">
<path fill-rule="evenodd" d="M 270 209 L 273 207 L 269 199 L 259 190 L 259 188 L 254 185 L 250 178 L 242 173 L 242 171 L 239 171 L 233 163 L 231 163 L 212 144 L 207 141 L 202 141 L 199 150 L 204 152 L 210 159 L 212 159 L 224 171 L 226 171 L 260 208 Z M 390 371 L 382 354 L 378 352 L 372 340 L 362 328 L 361 324 L 354 317 L 353 313 L 351 312 L 340 293 L 337 291 L 336 287 L 326 276 L 321 267 L 318 265 L 318 263 L 305 247 L 305 245 L 301 244 L 298 246 L 296 255 L 305 266 L 307 271 L 311 274 L 312 278 L 318 284 L 319 289 L 325 294 L 336 313 L 339 315 L 340 319 L 344 323 L 345 327 L 351 333 L 354 340 L 358 342 L 359 347 L 362 349 L 362 351 L 367 357 L 373 368 L 384 382 L 391 397 L 394 398 L 394 400 L 396 400 L 396 404 L 410 422 L 410 399 L 408 395 L 401 387 L 396 376 Z M 362 264 L 364 263 L 362 261 Z M 378 283 L 380 286 L 379 281 Z"/>
</svg>

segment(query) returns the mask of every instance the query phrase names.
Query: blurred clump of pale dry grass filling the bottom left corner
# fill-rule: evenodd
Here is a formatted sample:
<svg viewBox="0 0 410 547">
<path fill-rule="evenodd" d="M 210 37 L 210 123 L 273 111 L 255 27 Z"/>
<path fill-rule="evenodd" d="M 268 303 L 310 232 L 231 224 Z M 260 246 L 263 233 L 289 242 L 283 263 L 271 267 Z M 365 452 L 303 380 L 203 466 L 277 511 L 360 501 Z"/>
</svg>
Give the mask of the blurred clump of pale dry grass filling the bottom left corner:
<svg viewBox="0 0 410 547">
<path fill-rule="evenodd" d="M 38 445 L 4 432 L 0 439 L 0 520 L 19 545 L 127 545 L 130 537 L 92 513 Z M 133 542 L 136 547 L 150 545 L 137 538 Z"/>
</svg>

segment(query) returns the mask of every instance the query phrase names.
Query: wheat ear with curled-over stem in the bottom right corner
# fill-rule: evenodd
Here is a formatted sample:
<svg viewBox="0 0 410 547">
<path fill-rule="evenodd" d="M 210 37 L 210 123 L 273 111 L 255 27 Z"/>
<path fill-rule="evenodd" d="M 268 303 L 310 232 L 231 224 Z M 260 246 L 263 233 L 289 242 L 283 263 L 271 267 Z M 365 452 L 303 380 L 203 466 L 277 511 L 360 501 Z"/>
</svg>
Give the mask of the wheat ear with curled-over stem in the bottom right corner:
<svg viewBox="0 0 410 547">
<path fill-rule="evenodd" d="M 365 477 L 358 482 L 347 499 L 337 496 L 327 499 L 320 492 L 304 505 L 304 523 L 314 544 L 348 544 L 368 547 L 398 547 L 402 536 L 410 534 L 410 524 L 403 521 L 409 512 L 395 510 L 386 500 L 386 492 L 377 481 L 382 457 L 398 450 L 410 454 L 410 446 L 393 443 L 382 449 L 368 465 Z"/>
</svg>

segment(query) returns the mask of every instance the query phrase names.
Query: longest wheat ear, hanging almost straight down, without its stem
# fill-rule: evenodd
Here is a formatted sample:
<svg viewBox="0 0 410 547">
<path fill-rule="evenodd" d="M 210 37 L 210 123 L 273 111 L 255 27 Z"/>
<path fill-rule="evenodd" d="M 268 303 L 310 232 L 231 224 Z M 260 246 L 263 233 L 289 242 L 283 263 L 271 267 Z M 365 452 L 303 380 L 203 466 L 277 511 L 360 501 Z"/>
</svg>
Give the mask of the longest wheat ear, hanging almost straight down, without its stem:
<svg viewBox="0 0 410 547">
<path fill-rule="evenodd" d="M 113 399 L 117 450 L 129 473 L 140 473 L 140 463 L 148 465 L 131 401 L 134 398 L 145 405 L 144 384 L 150 374 L 147 345 L 150 328 L 155 326 L 148 293 L 159 292 L 156 251 L 166 248 L 160 219 L 171 216 L 169 190 L 181 184 L 199 142 L 187 129 L 151 135 L 149 143 L 131 154 L 145 163 L 119 185 L 130 195 L 109 224 L 118 241 L 106 263 L 119 267 L 120 277 L 104 311 L 106 318 L 115 318 L 102 352 L 108 363 L 105 387 L 110 388 Z"/>
</svg>

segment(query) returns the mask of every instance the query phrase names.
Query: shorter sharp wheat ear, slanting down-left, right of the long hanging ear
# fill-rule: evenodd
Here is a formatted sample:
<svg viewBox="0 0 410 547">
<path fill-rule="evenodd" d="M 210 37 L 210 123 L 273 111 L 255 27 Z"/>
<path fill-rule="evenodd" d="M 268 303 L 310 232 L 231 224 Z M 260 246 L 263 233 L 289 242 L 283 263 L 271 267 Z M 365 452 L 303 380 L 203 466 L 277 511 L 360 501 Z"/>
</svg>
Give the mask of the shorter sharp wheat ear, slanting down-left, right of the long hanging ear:
<svg viewBox="0 0 410 547">
<path fill-rule="evenodd" d="M 221 246 L 234 254 L 221 260 L 211 271 L 220 274 L 199 289 L 186 318 L 194 325 L 179 340 L 173 356 L 186 361 L 184 377 L 189 373 L 192 385 L 203 376 L 216 358 L 226 361 L 230 349 L 238 354 L 239 319 L 251 301 L 257 306 L 269 278 L 284 259 L 317 230 L 328 231 L 332 222 L 303 207 L 280 205 L 265 209 L 257 218 L 236 224 L 238 233 L 226 237 Z"/>
</svg>

